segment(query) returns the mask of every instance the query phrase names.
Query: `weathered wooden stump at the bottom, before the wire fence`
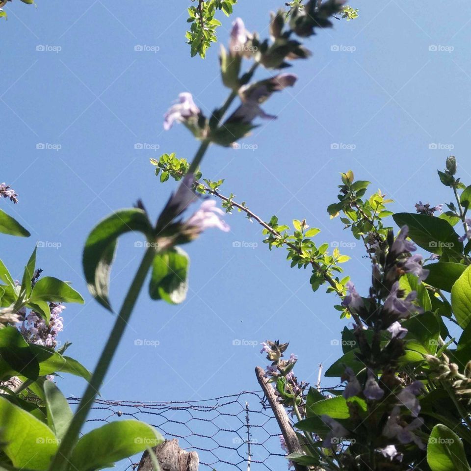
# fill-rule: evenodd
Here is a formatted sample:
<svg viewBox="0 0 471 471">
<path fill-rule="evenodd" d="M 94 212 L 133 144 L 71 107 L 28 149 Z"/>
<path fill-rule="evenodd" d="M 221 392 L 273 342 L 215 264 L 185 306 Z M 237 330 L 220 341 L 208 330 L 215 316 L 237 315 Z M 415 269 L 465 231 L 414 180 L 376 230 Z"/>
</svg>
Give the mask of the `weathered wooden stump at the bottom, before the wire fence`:
<svg viewBox="0 0 471 471">
<path fill-rule="evenodd" d="M 200 460 L 195 451 L 185 451 L 178 440 L 165 440 L 153 448 L 161 471 L 198 471 Z M 144 451 L 137 471 L 154 471 L 149 453 Z"/>
</svg>

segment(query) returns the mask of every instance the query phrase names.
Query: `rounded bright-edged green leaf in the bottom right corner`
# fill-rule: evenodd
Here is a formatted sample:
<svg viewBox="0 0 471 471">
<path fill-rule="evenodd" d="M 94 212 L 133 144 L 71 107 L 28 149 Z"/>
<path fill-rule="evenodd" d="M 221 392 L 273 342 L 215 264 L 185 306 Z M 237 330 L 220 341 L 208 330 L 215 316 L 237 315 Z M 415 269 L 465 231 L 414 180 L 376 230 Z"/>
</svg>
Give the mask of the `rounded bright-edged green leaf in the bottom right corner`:
<svg viewBox="0 0 471 471">
<path fill-rule="evenodd" d="M 470 471 L 463 443 L 447 426 L 432 429 L 427 445 L 427 463 L 432 471 Z"/>
</svg>

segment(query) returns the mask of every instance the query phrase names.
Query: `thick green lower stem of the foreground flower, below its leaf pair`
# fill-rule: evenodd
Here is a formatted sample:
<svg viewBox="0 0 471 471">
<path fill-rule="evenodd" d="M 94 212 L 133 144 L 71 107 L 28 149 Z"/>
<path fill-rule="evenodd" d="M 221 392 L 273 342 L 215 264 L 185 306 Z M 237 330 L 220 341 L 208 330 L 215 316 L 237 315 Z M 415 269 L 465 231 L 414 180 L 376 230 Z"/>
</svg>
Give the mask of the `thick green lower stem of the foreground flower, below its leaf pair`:
<svg viewBox="0 0 471 471">
<path fill-rule="evenodd" d="M 154 260 L 155 250 L 153 247 L 149 247 L 142 259 L 141 264 L 137 270 L 134 279 L 132 280 L 131 287 L 128 290 L 128 294 L 123 302 L 123 306 L 116 318 L 113 330 L 111 331 L 108 340 L 106 341 L 105 348 L 102 351 L 98 365 L 93 372 L 93 376 L 90 383 L 83 394 L 82 399 L 78 405 L 77 412 L 72 419 L 72 422 L 67 429 L 64 439 L 62 440 L 59 449 L 57 450 L 54 459 L 52 460 L 49 471 L 66 471 L 69 466 L 69 458 L 72 450 L 77 443 L 78 433 L 82 428 L 85 419 L 87 418 L 88 412 L 90 411 L 93 401 L 97 396 L 98 390 L 102 386 L 103 380 L 106 375 L 106 371 L 110 366 L 116 349 L 118 348 L 119 342 L 123 337 L 126 326 L 128 325 L 131 317 L 132 310 L 136 303 L 139 292 L 144 284 L 147 276 L 147 272 L 151 267 L 152 261 Z"/>
</svg>

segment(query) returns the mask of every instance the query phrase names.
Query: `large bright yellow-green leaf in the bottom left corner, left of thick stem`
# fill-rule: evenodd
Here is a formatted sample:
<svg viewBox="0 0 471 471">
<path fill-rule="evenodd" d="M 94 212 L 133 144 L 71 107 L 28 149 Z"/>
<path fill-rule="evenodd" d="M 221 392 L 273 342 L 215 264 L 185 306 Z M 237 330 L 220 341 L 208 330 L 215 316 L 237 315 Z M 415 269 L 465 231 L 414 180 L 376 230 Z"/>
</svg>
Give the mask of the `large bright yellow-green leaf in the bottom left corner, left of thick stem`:
<svg viewBox="0 0 471 471">
<path fill-rule="evenodd" d="M 39 419 L 0 396 L 0 449 L 13 466 L 46 471 L 57 451 L 57 438 Z"/>
</svg>

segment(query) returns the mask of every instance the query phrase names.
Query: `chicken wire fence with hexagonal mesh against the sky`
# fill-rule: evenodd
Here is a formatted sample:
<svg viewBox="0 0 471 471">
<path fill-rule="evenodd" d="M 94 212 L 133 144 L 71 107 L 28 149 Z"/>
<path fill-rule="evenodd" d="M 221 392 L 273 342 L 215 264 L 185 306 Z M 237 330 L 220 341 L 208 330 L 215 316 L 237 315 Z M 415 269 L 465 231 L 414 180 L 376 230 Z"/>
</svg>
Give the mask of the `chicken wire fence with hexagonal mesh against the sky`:
<svg viewBox="0 0 471 471">
<path fill-rule="evenodd" d="M 79 398 L 69 397 L 78 405 Z M 88 422 L 143 420 L 181 448 L 196 451 L 203 469 L 262 471 L 288 469 L 280 429 L 262 391 L 199 401 L 139 402 L 96 399 Z M 250 467 L 249 467 L 250 465 Z M 129 460 L 126 470 L 136 470 Z"/>
</svg>

